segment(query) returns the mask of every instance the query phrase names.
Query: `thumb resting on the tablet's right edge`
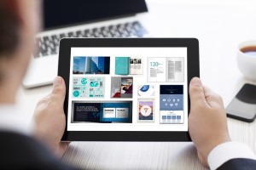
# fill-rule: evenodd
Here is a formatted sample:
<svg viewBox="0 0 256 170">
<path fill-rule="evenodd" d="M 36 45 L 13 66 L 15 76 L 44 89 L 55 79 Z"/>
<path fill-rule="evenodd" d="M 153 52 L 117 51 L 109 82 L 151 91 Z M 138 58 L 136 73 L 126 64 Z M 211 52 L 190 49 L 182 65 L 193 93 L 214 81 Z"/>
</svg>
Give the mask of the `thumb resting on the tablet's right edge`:
<svg viewBox="0 0 256 170">
<path fill-rule="evenodd" d="M 195 103 L 203 103 L 206 104 L 206 97 L 204 94 L 204 88 L 201 83 L 200 78 L 194 77 L 190 81 L 189 85 L 189 97 L 190 97 L 190 103 L 191 106 L 195 105 Z"/>
</svg>

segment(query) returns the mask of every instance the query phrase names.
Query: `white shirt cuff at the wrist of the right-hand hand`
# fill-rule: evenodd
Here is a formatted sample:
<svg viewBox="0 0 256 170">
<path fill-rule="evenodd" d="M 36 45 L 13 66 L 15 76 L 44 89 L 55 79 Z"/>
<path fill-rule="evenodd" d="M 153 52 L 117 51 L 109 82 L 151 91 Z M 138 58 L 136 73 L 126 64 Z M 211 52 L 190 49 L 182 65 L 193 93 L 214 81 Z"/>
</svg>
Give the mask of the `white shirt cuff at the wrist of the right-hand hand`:
<svg viewBox="0 0 256 170">
<path fill-rule="evenodd" d="M 242 144 L 240 142 L 225 142 L 223 144 L 218 144 L 213 148 L 207 161 L 211 169 L 217 169 L 223 165 L 224 162 L 236 158 L 256 160 L 256 156 L 247 144 Z"/>
</svg>

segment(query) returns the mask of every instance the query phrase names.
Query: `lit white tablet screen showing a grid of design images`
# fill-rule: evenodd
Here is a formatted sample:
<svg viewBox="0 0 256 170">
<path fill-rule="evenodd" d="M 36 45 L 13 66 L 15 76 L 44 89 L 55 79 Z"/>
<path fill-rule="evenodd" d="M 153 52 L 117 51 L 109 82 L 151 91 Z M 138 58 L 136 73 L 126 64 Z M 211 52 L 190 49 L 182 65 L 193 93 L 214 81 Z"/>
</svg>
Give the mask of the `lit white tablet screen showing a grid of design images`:
<svg viewBox="0 0 256 170">
<path fill-rule="evenodd" d="M 187 48 L 71 48 L 67 131 L 188 131 Z"/>
</svg>

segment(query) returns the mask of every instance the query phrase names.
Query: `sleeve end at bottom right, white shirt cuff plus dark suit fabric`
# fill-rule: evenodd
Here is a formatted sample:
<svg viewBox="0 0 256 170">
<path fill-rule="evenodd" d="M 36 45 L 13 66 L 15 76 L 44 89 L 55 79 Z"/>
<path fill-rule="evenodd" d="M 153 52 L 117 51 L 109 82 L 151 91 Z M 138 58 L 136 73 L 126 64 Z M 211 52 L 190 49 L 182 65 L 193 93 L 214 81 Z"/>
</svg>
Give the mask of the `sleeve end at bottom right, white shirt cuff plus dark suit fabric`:
<svg viewBox="0 0 256 170">
<path fill-rule="evenodd" d="M 211 169 L 221 170 L 228 168 L 234 170 L 250 170 L 253 167 L 253 169 L 256 169 L 256 156 L 247 144 L 242 144 L 240 142 L 226 142 L 218 144 L 218 146 L 213 148 L 208 156 L 208 164 Z M 247 164 L 248 168 L 243 167 L 245 164 Z"/>
</svg>

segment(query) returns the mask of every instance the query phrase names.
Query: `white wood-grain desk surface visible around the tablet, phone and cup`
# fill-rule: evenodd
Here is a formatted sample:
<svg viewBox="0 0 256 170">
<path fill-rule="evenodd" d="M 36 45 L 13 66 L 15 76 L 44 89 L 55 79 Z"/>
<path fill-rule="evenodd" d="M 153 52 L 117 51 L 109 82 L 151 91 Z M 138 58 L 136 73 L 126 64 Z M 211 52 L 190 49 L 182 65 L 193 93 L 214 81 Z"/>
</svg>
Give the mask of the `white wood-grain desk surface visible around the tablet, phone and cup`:
<svg viewBox="0 0 256 170">
<path fill-rule="evenodd" d="M 256 39 L 256 3 L 149 0 L 148 7 L 145 26 L 152 28 L 155 37 L 199 39 L 201 79 L 228 105 L 241 86 L 249 82 L 236 67 L 236 47 L 239 42 Z M 38 99 L 50 90 L 50 86 L 20 88 L 18 103 L 32 115 Z M 255 122 L 228 119 L 228 123 L 231 138 L 248 144 L 256 153 Z M 76 142 L 63 159 L 86 169 L 205 169 L 192 143 Z"/>
</svg>

